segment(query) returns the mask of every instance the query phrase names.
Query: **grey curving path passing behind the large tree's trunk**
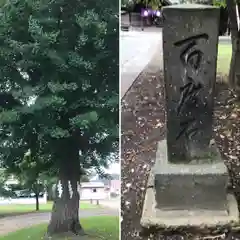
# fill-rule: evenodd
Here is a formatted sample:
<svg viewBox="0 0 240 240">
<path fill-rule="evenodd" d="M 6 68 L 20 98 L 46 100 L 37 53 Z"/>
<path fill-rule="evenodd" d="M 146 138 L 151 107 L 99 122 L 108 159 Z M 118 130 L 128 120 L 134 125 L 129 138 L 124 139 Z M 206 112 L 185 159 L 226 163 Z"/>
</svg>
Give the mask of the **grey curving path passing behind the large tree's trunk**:
<svg viewBox="0 0 240 240">
<path fill-rule="evenodd" d="M 79 212 L 80 218 L 93 216 L 118 216 L 119 212 L 110 208 L 88 209 Z M 29 213 L 15 217 L 5 217 L 0 219 L 0 236 L 21 228 L 27 228 L 33 225 L 48 223 L 51 213 Z"/>
</svg>

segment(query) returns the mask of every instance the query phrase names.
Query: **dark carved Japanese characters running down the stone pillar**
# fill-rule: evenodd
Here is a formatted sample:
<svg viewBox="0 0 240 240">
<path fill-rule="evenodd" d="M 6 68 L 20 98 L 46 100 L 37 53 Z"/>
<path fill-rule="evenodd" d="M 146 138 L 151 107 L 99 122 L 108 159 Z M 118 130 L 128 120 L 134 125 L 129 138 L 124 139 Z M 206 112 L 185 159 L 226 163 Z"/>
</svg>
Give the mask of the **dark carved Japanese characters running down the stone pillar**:
<svg viewBox="0 0 240 240">
<path fill-rule="evenodd" d="M 206 105 L 201 99 L 201 90 L 204 85 L 195 79 L 203 58 L 203 52 L 197 49 L 197 41 L 199 39 L 208 40 L 208 38 L 207 34 L 199 34 L 174 43 L 176 47 L 181 48 L 180 61 L 184 67 L 182 78 L 185 83 L 179 89 L 180 99 L 176 107 L 177 116 L 180 116 L 180 119 L 181 116 L 183 118 L 180 120 L 180 129 L 176 140 L 183 135 L 190 140 L 199 130 L 196 124 L 197 116 L 191 114 L 193 108 Z"/>
</svg>

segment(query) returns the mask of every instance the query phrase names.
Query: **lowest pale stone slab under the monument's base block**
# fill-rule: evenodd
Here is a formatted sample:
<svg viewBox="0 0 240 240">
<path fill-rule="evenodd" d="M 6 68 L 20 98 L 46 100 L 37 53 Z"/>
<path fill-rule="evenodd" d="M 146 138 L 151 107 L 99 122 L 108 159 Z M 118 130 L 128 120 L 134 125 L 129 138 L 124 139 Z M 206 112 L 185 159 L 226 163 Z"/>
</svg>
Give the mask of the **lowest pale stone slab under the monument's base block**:
<svg viewBox="0 0 240 240">
<path fill-rule="evenodd" d="M 175 210 L 164 211 L 156 208 L 156 200 L 153 188 L 147 188 L 142 211 L 141 225 L 145 228 L 173 228 L 177 227 L 196 227 L 196 228 L 215 228 L 217 226 L 235 225 L 238 223 L 238 205 L 233 194 L 227 194 L 228 211 L 215 210 Z"/>
</svg>

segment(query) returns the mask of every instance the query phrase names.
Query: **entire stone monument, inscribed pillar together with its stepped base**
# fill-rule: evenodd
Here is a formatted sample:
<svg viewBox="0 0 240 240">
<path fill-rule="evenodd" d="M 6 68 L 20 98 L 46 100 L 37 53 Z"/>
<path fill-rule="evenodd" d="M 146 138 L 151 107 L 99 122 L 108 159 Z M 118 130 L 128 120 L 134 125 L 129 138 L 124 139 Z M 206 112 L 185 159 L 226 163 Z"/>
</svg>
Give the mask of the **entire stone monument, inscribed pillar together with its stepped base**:
<svg viewBox="0 0 240 240">
<path fill-rule="evenodd" d="M 213 99 L 219 9 L 163 8 L 166 140 L 150 172 L 144 227 L 216 226 L 238 221 L 228 170 L 214 142 Z"/>
</svg>

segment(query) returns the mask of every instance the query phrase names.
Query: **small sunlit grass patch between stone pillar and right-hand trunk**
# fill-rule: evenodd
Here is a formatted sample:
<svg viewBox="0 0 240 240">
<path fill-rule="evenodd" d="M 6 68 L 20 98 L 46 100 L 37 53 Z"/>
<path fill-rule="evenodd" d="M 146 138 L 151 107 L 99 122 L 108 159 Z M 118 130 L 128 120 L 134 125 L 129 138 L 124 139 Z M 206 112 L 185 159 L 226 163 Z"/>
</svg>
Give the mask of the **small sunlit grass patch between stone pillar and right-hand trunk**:
<svg viewBox="0 0 240 240">
<path fill-rule="evenodd" d="M 223 75 L 223 76 L 228 75 L 231 56 L 232 56 L 231 44 L 218 45 L 217 73 L 219 75 Z"/>
</svg>

